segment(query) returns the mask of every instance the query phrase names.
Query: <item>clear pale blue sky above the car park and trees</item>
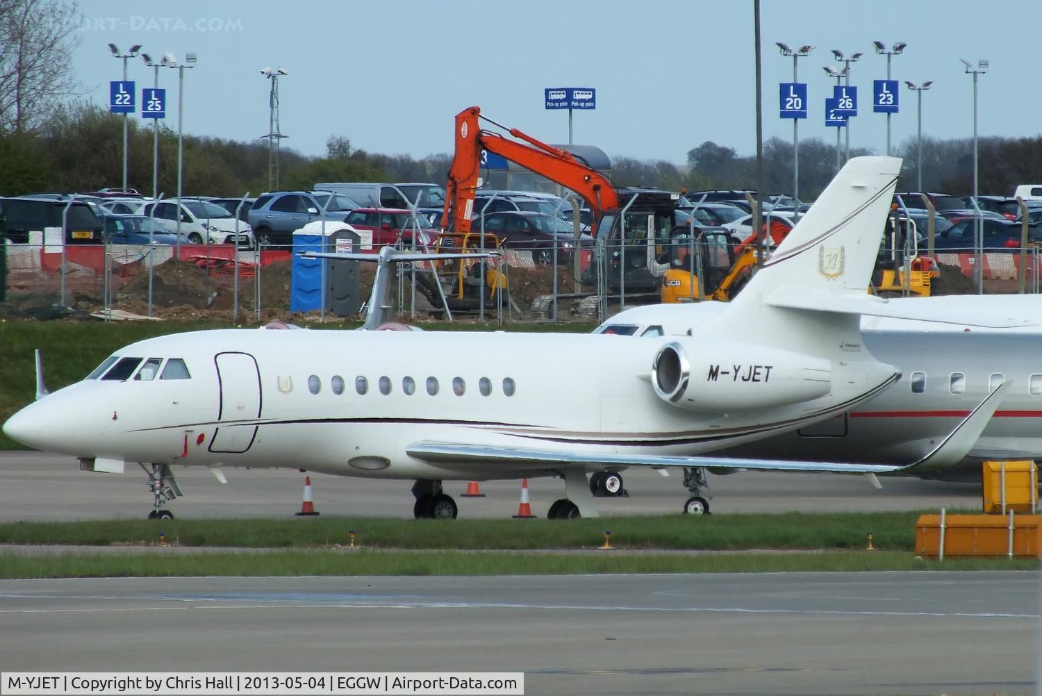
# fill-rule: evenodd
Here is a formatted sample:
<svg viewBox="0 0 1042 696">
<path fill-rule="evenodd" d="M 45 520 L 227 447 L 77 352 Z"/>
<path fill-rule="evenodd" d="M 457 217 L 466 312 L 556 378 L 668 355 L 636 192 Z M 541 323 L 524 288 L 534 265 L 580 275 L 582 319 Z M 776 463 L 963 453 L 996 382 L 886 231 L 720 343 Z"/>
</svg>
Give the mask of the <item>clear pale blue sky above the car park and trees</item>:
<svg viewBox="0 0 1042 696">
<path fill-rule="evenodd" d="M 551 143 L 568 142 L 568 116 L 544 108 L 544 88 L 597 90 L 597 107 L 574 114 L 576 144 L 610 155 L 684 163 L 704 141 L 755 151 L 752 0 L 312 0 L 296 3 L 145 3 L 80 0 L 73 56 L 85 98 L 108 103 L 122 76 L 107 44 L 142 44 L 153 56 L 198 54 L 184 75 L 184 131 L 248 141 L 268 132 L 265 67 L 279 81 L 283 146 L 322 154 L 331 134 L 356 148 L 422 157 L 452 149 L 453 116 L 472 105 Z M 934 80 L 923 93 L 923 134 L 972 134 L 972 76 L 960 58 L 991 61 L 979 77 L 981 135 L 1038 135 L 1038 0 L 763 0 L 764 139 L 792 138 L 778 118 L 778 83 L 791 81 L 780 41 L 816 46 L 799 59 L 810 90 L 800 138 L 832 142 L 824 98 L 835 79 L 830 49 L 850 55 L 860 115 L 850 146 L 886 151 L 886 117 L 871 110 L 886 57 L 872 41 L 908 48 L 893 57 L 901 80 L 892 142 L 916 134 L 916 95 L 903 80 Z M 152 70 L 130 61 L 130 79 Z M 177 72 L 163 69 L 167 125 L 177 127 Z M 135 116 L 135 118 L 138 118 Z"/>
</svg>

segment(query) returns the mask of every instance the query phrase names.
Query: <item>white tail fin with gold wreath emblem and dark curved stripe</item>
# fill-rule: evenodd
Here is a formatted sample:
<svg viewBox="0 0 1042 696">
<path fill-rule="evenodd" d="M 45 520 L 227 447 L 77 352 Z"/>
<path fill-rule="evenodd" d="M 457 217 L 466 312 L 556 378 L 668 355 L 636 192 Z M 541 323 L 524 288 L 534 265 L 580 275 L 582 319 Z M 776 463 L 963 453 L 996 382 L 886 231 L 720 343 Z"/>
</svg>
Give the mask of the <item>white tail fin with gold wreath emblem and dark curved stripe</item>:
<svg viewBox="0 0 1042 696">
<path fill-rule="evenodd" d="M 825 302 L 815 309 L 772 306 L 770 300 L 800 297 L 813 305 L 815 297 L 866 296 L 900 167 L 898 157 L 848 161 L 704 330 L 736 331 L 750 341 L 819 354 L 816 345 L 852 342 L 860 349 L 859 315 L 829 313 Z"/>
</svg>

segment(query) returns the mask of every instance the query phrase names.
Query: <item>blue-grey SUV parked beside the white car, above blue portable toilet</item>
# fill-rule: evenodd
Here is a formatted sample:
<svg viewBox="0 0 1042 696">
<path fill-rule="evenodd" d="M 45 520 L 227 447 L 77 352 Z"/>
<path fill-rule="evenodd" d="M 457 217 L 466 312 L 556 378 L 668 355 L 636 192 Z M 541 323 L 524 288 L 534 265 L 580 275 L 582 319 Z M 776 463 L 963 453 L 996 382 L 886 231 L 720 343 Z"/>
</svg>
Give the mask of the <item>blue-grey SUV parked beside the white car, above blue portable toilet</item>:
<svg viewBox="0 0 1042 696">
<path fill-rule="evenodd" d="M 358 203 L 328 191 L 279 191 L 262 195 L 250 208 L 249 222 L 263 247 L 293 246 L 293 232 L 322 220 L 344 222 Z"/>
</svg>

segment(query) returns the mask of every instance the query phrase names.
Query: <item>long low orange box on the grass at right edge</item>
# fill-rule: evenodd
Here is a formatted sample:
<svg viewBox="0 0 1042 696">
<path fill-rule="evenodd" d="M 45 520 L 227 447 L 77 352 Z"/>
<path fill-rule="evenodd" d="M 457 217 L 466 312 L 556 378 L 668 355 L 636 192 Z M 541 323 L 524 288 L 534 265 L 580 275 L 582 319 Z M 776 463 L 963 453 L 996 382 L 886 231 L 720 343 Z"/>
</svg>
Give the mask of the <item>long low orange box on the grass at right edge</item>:
<svg viewBox="0 0 1042 696">
<path fill-rule="evenodd" d="M 1040 519 L 1038 515 L 947 515 L 942 529 L 940 515 L 922 515 L 915 524 L 915 552 L 916 555 L 933 557 L 1002 556 L 1012 553 L 1040 558 Z"/>
</svg>

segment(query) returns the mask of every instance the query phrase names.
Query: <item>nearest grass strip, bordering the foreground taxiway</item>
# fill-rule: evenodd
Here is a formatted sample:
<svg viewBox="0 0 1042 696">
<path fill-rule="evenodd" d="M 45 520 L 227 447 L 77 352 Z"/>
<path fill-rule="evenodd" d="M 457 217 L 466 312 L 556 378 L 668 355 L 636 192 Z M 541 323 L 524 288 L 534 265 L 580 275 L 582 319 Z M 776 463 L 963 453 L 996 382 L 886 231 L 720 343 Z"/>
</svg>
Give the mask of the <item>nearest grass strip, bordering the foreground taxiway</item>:
<svg viewBox="0 0 1042 696">
<path fill-rule="evenodd" d="M 896 551 L 727 555 L 517 554 L 462 551 L 277 551 L 251 554 L 0 554 L 0 577 L 171 577 L 290 575 L 560 575 L 810 571 L 1035 570 L 1036 560 L 963 558 L 943 563 Z"/>
</svg>

